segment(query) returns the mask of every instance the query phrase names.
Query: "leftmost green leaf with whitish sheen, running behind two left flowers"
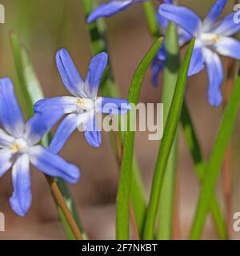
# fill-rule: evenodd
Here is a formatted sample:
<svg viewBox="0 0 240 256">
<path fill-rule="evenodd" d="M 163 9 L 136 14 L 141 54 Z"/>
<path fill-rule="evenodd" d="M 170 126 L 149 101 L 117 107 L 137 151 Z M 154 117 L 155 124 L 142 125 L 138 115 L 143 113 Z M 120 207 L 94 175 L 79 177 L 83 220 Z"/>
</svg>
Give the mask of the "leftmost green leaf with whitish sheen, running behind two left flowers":
<svg viewBox="0 0 240 256">
<path fill-rule="evenodd" d="M 18 92 L 18 97 L 22 103 L 22 107 L 25 110 L 26 118 L 29 119 L 33 114 L 33 106 L 35 102 L 44 98 L 42 86 L 38 80 L 36 73 L 34 72 L 34 67 L 30 62 L 29 54 L 27 53 L 26 47 L 19 42 L 18 36 L 14 33 L 10 33 L 10 41 L 12 45 L 12 50 L 14 54 L 15 66 L 18 73 L 19 85 L 16 86 L 16 91 Z M 49 146 L 50 134 L 46 134 L 42 138 L 42 144 L 46 147 Z M 79 228 L 82 230 L 82 224 L 78 218 L 77 210 L 74 206 L 73 198 L 71 197 L 70 190 L 66 185 L 66 182 L 61 179 L 56 178 L 59 189 L 62 192 L 63 197 L 66 200 L 67 206 L 71 213 L 74 216 L 75 221 L 78 223 Z M 74 234 L 72 233 L 70 226 L 66 222 L 66 218 L 58 204 L 56 204 L 58 209 L 58 215 L 62 222 L 62 226 L 66 232 L 68 239 L 75 239 Z M 86 234 L 82 230 L 82 235 L 86 238 Z"/>
</svg>

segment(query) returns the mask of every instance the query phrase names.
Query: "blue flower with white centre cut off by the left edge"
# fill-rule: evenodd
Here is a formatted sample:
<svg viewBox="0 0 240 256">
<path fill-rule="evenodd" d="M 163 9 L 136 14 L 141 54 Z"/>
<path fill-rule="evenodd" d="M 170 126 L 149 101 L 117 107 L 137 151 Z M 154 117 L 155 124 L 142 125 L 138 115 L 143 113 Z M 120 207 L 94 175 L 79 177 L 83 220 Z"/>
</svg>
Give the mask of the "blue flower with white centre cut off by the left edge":
<svg viewBox="0 0 240 256">
<path fill-rule="evenodd" d="M 30 209 L 32 194 L 30 163 L 44 174 L 78 182 L 79 170 L 38 145 L 47 130 L 54 126 L 62 114 L 35 114 L 24 122 L 9 78 L 0 79 L 0 177 L 12 167 L 14 192 L 10 206 L 20 216 Z"/>
</svg>

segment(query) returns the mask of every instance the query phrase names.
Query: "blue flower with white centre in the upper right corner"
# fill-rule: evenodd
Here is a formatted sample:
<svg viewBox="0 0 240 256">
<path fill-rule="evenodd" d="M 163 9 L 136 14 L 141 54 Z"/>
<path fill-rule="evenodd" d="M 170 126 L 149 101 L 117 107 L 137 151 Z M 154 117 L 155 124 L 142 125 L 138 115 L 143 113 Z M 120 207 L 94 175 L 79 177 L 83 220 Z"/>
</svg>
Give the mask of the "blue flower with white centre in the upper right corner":
<svg viewBox="0 0 240 256">
<path fill-rule="evenodd" d="M 208 101 L 211 106 L 219 106 L 222 103 L 221 85 L 224 75 L 218 54 L 240 59 L 240 42 L 230 37 L 240 30 L 240 24 L 234 22 L 235 13 L 217 22 L 226 3 L 227 0 L 215 2 L 203 21 L 186 7 L 170 4 L 162 4 L 159 7 L 159 14 L 163 18 L 175 22 L 191 37 L 196 38 L 188 74 L 198 74 L 206 66 L 209 78 Z"/>
</svg>

